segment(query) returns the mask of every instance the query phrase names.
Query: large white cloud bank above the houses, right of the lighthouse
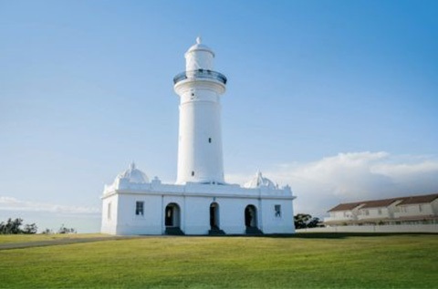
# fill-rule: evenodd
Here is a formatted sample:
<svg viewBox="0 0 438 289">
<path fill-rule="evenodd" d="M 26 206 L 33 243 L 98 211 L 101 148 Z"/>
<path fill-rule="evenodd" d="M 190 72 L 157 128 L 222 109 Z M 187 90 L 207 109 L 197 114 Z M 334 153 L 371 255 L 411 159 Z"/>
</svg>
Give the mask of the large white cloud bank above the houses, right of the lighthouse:
<svg viewBox="0 0 438 289">
<path fill-rule="evenodd" d="M 391 198 L 438 191 L 438 159 L 392 156 L 387 152 L 339 153 L 309 163 L 294 163 L 263 171 L 297 195 L 295 212 L 323 216 L 339 202 Z M 244 183 L 250 175 L 227 176 Z"/>
</svg>

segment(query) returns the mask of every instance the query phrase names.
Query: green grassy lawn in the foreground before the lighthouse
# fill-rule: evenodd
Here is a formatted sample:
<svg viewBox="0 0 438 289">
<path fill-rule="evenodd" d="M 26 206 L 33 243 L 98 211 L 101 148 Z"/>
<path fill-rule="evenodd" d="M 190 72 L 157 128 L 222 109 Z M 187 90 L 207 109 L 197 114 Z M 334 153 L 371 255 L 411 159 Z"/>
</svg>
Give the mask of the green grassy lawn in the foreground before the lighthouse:
<svg viewBox="0 0 438 289">
<path fill-rule="evenodd" d="M 438 288 L 438 235 L 144 237 L 2 250 L 0 287 Z"/>
</svg>

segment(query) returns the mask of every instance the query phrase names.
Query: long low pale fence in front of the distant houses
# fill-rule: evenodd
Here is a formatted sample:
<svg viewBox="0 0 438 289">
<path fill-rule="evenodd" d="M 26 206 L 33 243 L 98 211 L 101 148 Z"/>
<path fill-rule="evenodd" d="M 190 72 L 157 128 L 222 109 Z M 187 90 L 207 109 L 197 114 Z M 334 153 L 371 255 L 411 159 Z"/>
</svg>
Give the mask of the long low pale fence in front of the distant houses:
<svg viewBox="0 0 438 289">
<path fill-rule="evenodd" d="M 296 232 L 438 232 L 438 224 L 337 226 L 297 229 Z"/>
</svg>

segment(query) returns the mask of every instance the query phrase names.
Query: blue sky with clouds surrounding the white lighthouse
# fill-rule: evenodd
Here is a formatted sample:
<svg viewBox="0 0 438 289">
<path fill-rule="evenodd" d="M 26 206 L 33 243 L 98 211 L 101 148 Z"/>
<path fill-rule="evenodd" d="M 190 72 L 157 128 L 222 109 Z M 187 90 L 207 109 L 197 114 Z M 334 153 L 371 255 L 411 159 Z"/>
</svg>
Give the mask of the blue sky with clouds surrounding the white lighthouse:
<svg viewBox="0 0 438 289">
<path fill-rule="evenodd" d="M 0 218 L 98 231 L 131 160 L 175 181 L 196 36 L 229 80 L 226 180 L 262 170 L 318 216 L 438 191 L 436 1 L 0 0 Z"/>
</svg>

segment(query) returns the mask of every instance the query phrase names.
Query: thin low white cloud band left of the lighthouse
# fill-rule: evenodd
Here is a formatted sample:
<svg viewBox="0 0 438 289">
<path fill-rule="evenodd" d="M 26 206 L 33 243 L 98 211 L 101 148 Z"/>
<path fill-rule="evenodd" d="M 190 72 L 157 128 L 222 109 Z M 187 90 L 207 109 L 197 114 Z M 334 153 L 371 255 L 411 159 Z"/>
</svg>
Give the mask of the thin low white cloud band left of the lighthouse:
<svg viewBox="0 0 438 289">
<path fill-rule="evenodd" d="M 0 196 L 0 210 L 19 212 L 57 212 L 69 214 L 99 213 L 96 207 L 66 206 L 47 202 L 21 201 L 8 196 Z"/>
</svg>

